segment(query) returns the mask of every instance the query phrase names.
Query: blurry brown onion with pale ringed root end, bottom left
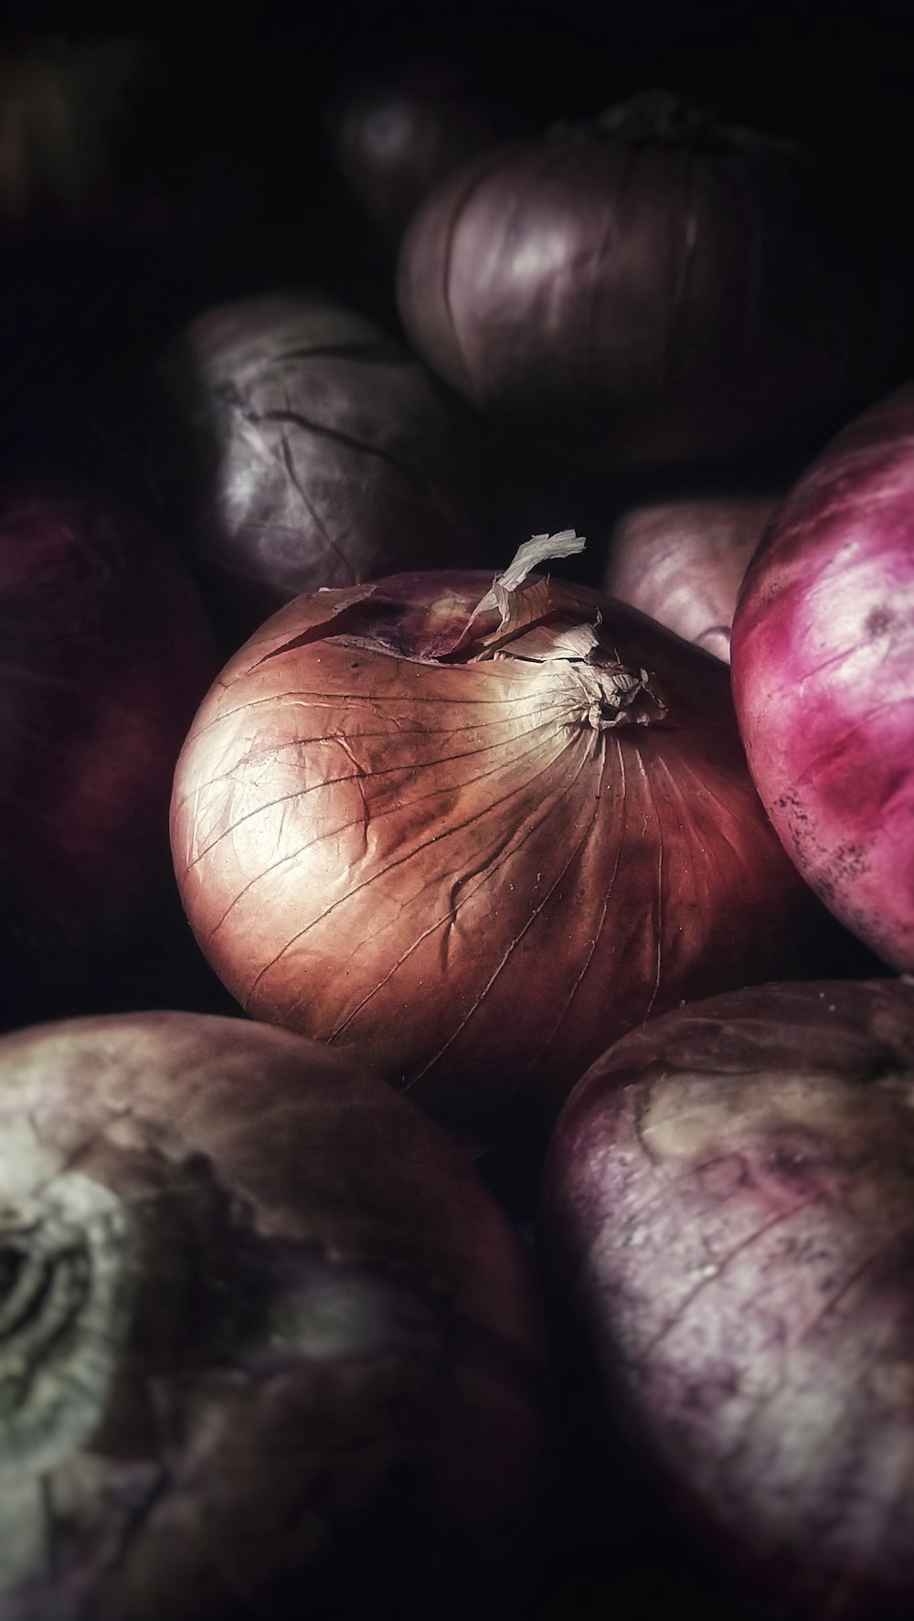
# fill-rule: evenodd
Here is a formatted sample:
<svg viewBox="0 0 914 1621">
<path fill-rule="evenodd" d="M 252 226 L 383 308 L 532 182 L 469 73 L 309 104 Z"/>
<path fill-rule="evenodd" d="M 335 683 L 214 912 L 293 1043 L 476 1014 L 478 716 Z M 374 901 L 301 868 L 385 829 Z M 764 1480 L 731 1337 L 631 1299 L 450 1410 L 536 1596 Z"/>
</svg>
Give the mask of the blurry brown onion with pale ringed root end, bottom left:
<svg viewBox="0 0 914 1621">
<path fill-rule="evenodd" d="M 3 1621 L 298 1616 L 386 1496 L 394 1568 L 520 1514 L 527 1260 L 391 1088 L 246 1020 L 71 1020 L 0 1042 L 0 1140 Z"/>
</svg>

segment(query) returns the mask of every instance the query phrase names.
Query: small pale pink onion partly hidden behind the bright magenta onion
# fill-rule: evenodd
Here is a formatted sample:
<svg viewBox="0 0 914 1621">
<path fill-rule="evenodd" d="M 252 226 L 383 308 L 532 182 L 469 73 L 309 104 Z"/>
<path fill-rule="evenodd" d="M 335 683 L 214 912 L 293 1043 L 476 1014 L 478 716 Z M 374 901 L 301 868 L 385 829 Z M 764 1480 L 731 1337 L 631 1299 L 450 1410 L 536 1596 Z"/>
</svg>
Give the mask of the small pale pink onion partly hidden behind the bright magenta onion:
<svg viewBox="0 0 914 1621">
<path fill-rule="evenodd" d="M 729 665 L 736 598 L 775 506 L 752 494 L 632 507 L 609 537 L 603 590 Z"/>
</svg>

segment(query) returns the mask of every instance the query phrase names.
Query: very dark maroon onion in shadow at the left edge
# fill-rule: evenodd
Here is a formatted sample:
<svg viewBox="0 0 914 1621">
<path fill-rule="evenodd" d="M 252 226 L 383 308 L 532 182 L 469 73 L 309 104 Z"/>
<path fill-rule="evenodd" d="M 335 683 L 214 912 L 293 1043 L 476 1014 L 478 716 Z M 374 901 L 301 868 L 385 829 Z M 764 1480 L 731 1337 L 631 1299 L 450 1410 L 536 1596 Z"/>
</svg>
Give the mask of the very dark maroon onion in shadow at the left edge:
<svg viewBox="0 0 914 1621">
<path fill-rule="evenodd" d="M 29 952 L 81 952 L 170 887 L 175 760 L 216 653 L 167 541 L 96 493 L 0 494 L 0 890 Z"/>
</svg>

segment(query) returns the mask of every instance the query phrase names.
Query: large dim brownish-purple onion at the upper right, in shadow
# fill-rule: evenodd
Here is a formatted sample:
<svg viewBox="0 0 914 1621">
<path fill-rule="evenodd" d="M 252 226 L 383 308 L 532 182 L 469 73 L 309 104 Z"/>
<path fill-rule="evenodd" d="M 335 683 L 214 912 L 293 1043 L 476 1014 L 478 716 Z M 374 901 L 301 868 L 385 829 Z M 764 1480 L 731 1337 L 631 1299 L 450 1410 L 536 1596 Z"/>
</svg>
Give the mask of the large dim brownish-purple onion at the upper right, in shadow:
<svg viewBox="0 0 914 1621">
<path fill-rule="evenodd" d="M 859 190 L 648 92 L 438 186 L 402 318 L 475 405 L 606 475 L 788 446 L 898 374 L 906 279 Z"/>
</svg>

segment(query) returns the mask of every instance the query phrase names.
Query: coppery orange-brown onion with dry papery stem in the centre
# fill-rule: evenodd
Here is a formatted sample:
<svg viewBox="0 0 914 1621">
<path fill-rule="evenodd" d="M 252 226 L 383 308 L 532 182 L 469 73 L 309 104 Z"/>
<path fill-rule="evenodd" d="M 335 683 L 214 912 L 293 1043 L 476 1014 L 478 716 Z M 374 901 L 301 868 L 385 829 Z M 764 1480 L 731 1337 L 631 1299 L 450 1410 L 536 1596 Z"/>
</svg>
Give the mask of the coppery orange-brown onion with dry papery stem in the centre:
<svg viewBox="0 0 914 1621">
<path fill-rule="evenodd" d="M 491 585 L 290 603 L 172 799 L 185 911 L 246 1012 L 357 1046 L 476 1143 L 519 1102 L 554 1118 L 651 1013 L 788 973 L 815 906 L 718 660 L 583 587 L 533 575 L 496 611 Z"/>
</svg>

